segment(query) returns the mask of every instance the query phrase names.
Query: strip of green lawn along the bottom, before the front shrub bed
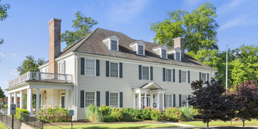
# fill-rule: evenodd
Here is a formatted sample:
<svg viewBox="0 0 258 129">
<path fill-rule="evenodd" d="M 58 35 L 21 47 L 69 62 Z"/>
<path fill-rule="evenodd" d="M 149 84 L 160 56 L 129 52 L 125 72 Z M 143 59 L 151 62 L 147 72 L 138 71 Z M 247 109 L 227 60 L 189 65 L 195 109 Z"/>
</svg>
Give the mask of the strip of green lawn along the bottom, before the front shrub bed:
<svg viewBox="0 0 258 129">
<path fill-rule="evenodd" d="M 180 127 L 169 124 L 96 124 L 96 125 L 73 125 L 73 129 L 137 129 L 137 128 L 164 128 Z M 70 129 L 71 126 L 45 126 L 44 129 Z"/>
</svg>

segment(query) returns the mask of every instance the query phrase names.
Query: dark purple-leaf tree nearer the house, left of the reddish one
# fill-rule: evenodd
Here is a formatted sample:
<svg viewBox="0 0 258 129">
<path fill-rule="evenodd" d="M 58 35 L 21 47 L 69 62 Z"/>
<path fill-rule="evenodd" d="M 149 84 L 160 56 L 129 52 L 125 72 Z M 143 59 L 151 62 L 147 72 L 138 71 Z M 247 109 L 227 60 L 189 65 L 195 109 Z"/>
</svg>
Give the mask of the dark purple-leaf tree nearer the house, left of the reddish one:
<svg viewBox="0 0 258 129">
<path fill-rule="evenodd" d="M 189 104 L 195 109 L 199 109 L 200 115 L 193 116 L 196 119 L 202 119 L 207 123 L 211 120 L 228 121 L 232 119 L 234 114 L 235 103 L 232 95 L 226 95 L 226 89 L 222 80 L 216 81 L 211 78 L 211 81 L 205 82 L 202 80 L 192 81 L 191 88 L 194 90 L 189 99 Z"/>
</svg>

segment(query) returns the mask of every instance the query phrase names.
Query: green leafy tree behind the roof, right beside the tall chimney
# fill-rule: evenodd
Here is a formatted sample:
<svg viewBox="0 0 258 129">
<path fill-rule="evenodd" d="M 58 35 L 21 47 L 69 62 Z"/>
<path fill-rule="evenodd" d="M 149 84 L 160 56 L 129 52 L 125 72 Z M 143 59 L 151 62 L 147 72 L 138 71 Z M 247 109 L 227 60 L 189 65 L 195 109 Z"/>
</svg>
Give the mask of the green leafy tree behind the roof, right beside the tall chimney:
<svg viewBox="0 0 258 129">
<path fill-rule="evenodd" d="M 66 42 L 67 47 L 89 34 L 92 27 L 98 24 L 96 20 L 93 20 L 91 17 L 85 17 L 84 14 L 79 11 L 75 13 L 75 17 L 76 19 L 72 20 L 72 22 L 74 22 L 72 28 L 74 28 L 75 31 L 66 30 L 65 33 L 61 34 L 61 42 Z"/>
</svg>

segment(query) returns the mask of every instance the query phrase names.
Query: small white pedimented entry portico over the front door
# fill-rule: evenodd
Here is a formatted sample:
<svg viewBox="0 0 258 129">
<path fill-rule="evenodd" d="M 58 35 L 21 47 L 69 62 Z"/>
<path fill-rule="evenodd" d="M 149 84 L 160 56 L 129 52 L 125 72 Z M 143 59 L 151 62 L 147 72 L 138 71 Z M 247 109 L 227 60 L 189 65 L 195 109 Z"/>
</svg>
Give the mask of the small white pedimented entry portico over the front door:
<svg viewBox="0 0 258 129">
<path fill-rule="evenodd" d="M 154 107 L 164 110 L 164 94 L 166 89 L 162 89 L 154 82 L 146 83 L 133 90 L 133 108 Z M 162 98 L 162 101 L 160 99 Z M 160 107 L 162 105 L 162 107 Z"/>
</svg>

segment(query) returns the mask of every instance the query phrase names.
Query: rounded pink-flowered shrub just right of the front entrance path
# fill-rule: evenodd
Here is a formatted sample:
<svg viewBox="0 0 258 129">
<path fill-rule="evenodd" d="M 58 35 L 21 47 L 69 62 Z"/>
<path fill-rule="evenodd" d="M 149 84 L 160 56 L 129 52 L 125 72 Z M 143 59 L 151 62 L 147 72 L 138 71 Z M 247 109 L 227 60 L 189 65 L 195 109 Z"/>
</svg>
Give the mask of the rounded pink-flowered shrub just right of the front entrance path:
<svg viewBox="0 0 258 129">
<path fill-rule="evenodd" d="M 165 110 L 165 115 L 166 115 L 166 118 L 169 120 L 175 120 L 175 121 L 182 120 L 182 112 L 175 107 L 167 108 Z"/>
</svg>

